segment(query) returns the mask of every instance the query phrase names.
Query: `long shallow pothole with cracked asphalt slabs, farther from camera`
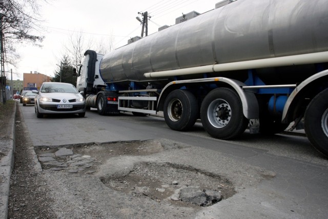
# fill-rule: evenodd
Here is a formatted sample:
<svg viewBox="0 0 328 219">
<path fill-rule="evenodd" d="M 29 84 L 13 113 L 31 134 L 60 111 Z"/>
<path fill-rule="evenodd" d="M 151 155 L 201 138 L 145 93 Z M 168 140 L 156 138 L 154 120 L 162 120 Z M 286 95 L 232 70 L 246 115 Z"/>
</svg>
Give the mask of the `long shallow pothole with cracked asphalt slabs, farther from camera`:
<svg viewBox="0 0 328 219">
<path fill-rule="evenodd" d="M 159 140 L 148 140 L 41 147 L 36 148 L 35 152 L 43 169 L 93 173 L 96 166 L 112 157 L 152 155 L 164 149 Z"/>
</svg>

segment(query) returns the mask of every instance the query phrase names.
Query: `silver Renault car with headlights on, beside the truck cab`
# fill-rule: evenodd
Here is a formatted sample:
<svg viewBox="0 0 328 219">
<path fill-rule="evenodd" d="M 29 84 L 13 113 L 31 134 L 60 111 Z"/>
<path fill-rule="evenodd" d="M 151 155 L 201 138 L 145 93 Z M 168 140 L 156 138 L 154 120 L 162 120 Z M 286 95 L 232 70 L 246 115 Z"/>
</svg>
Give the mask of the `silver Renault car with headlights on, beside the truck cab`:
<svg viewBox="0 0 328 219">
<path fill-rule="evenodd" d="M 44 114 L 86 114 L 86 100 L 70 83 L 44 82 L 36 93 L 35 113 L 37 118 Z"/>
</svg>

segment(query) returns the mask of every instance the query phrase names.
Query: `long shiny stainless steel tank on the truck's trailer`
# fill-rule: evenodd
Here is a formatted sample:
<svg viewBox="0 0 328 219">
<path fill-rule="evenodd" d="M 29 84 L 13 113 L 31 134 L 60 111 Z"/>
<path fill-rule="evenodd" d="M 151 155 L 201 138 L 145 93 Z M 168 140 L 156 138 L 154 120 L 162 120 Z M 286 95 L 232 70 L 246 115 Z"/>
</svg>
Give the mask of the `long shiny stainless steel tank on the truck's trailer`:
<svg viewBox="0 0 328 219">
<path fill-rule="evenodd" d="M 106 54 L 100 75 L 146 81 L 148 72 L 323 51 L 327 0 L 238 0 Z"/>
</svg>

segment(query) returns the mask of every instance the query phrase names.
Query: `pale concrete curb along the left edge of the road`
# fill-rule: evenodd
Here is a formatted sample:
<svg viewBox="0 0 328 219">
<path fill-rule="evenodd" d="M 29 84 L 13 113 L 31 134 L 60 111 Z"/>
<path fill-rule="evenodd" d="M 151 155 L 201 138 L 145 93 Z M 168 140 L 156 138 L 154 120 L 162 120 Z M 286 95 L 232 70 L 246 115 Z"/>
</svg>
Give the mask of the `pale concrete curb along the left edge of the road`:
<svg viewBox="0 0 328 219">
<path fill-rule="evenodd" d="M 14 109 L 11 114 L 10 122 L 8 128 L 4 130 L 5 140 L 4 144 L 8 144 L 7 150 L 8 154 L 4 156 L 0 161 L 0 218 L 8 217 L 8 199 L 10 192 L 10 177 L 11 172 L 14 167 L 14 153 L 15 153 L 15 121 L 16 121 L 16 108 L 17 102 L 14 104 Z M 7 133 L 6 133 L 7 132 Z"/>
</svg>

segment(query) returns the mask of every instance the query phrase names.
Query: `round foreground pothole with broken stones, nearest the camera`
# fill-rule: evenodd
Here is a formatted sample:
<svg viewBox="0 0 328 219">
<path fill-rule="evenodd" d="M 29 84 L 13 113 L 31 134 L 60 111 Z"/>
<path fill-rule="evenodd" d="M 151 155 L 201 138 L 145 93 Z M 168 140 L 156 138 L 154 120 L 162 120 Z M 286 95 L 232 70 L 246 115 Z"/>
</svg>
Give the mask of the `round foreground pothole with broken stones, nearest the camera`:
<svg viewBox="0 0 328 219">
<path fill-rule="evenodd" d="M 228 179 L 173 163 L 142 162 L 126 176 L 100 180 L 117 191 L 182 206 L 210 206 L 236 193 Z"/>
</svg>

